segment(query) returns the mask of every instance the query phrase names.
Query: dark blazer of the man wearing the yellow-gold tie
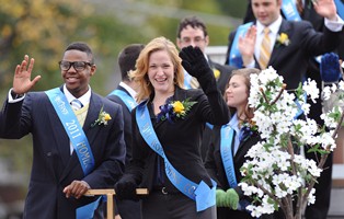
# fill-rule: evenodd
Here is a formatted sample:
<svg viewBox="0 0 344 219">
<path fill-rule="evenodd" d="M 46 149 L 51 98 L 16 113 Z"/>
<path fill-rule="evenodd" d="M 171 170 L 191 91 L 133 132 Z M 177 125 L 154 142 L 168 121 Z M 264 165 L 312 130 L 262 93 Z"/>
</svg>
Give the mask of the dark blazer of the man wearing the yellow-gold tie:
<svg viewBox="0 0 344 219">
<path fill-rule="evenodd" d="M 288 35 L 290 45 L 277 46 L 275 44 L 267 65 L 273 66 L 284 77 L 287 90 L 296 89 L 298 83 L 303 80 L 310 58 L 332 51 L 339 46 L 343 36 L 342 32 L 331 32 L 326 27 L 322 33 L 316 32 L 307 21 L 291 22 L 283 20 L 278 31 L 278 34 L 280 33 Z M 227 59 L 233 37 L 234 33 L 230 34 Z M 255 62 L 255 67 L 260 68 L 257 61 Z"/>
</svg>

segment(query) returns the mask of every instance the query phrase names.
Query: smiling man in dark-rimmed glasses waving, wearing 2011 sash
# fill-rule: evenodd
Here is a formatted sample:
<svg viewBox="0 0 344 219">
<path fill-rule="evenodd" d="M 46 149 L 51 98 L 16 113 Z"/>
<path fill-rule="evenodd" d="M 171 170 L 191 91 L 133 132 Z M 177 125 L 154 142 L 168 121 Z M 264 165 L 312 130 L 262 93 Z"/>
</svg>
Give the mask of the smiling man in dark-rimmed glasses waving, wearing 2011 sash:
<svg viewBox="0 0 344 219">
<path fill-rule="evenodd" d="M 23 218 L 103 218 L 90 188 L 112 187 L 124 171 L 122 107 L 91 90 L 91 48 L 70 44 L 59 67 L 64 84 L 28 92 L 34 59 L 18 65 L 0 113 L 0 137 L 33 138 L 33 165 Z M 76 102 L 76 103 L 74 103 Z M 70 105 L 71 104 L 71 105 Z M 89 208 L 90 207 L 90 208 Z"/>
</svg>

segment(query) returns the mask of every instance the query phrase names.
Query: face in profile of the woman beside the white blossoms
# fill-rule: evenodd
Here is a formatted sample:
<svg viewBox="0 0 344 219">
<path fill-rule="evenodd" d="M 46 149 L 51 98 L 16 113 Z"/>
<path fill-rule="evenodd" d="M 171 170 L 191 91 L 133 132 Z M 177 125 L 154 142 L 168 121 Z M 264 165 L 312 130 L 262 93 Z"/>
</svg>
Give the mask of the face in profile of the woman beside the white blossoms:
<svg viewBox="0 0 344 219">
<path fill-rule="evenodd" d="M 234 107 L 238 111 L 244 110 L 248 104 L 248 88 L 245 78 L 236 74 L 228 82 L 226 92 L 226 101 L 229 107 Z"/>
</svg>

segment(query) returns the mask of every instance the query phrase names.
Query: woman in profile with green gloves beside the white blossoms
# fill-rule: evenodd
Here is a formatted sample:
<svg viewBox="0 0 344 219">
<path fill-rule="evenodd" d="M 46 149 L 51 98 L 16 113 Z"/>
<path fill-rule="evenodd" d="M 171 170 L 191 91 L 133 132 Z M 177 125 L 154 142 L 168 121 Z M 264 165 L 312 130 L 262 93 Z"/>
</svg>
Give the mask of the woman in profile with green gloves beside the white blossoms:
<svg viewBox="0 0 344 219">
<path fill-rule="evenodd" d="M 218 219 L 253 218 L 244 209 L 250 197 L 245 197 L 238 186 L 242 180 L 240 168 L 248 159 L 245 154 L 261 140 L 257 131 L 251 129 L 253 108 L 248 105 L 250 76 L 253 73 L 260 73 L 260 70 L 245 68 L 232 72 L 223 95 L 232 117 L 227 125 L 214 127 L 211 143 L 207 151 L 205 166 L 218 185 L 216 201 Z M 223 162 L 222 158 L 228 162 Z"/>
</svg>

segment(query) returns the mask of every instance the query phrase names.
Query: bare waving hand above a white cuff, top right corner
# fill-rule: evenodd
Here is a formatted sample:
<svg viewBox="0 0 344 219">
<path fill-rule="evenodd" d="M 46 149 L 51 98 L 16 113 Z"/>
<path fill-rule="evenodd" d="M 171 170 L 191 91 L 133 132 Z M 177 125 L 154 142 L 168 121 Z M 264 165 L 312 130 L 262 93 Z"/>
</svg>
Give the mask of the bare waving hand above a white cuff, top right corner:
<svg viewBox="0 0 344 219">
<path fill-rule="evenodd" d="M 317 13 L 331 21 L 336 21 L 336 7 L 333 0 L 312 0 Z"/>
</svg>

